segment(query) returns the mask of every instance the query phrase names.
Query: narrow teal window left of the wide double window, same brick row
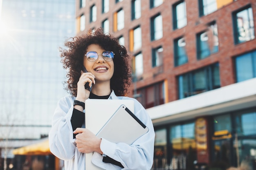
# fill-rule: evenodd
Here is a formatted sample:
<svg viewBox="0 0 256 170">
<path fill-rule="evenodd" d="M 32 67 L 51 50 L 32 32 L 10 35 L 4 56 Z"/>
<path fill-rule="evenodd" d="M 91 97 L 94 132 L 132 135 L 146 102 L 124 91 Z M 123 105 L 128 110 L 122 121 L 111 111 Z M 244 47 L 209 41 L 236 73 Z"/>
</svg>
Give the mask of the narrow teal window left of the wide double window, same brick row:
<svg viewBox="0 0 256 170">
<path fill-rule="evenodd" d="M 175 66 L 180 66 L 187 62 L 185 38 L 178 38 L 174 40 L 174 64 Z"/>
</svg>

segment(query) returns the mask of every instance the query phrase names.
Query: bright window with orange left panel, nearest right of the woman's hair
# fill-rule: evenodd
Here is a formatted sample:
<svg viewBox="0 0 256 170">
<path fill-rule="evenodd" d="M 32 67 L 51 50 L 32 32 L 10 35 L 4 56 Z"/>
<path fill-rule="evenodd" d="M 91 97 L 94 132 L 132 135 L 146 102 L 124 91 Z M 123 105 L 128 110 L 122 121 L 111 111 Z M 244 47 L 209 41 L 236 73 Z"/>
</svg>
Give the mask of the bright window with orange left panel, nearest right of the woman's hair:
<svg viewBox="0 0 256 170">
<path fill-rule="evenodd" d="M 141 28 L 138 26 L 130 30 L 130 51 L 136 51 L 141 48 Z"/>
</svg>

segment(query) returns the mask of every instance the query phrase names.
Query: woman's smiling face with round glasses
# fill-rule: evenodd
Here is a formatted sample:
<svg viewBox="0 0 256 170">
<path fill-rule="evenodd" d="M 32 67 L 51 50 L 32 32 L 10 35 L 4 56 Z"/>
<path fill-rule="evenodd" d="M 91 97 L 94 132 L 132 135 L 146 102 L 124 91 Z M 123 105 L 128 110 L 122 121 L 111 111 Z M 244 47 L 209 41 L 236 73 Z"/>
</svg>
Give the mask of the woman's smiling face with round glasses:
<svg viewBox="0 0 256 170">
<path fill-rule="evenodd" d="M 98 58 L 94 62 L 90 62 L 86 56 L 83 59 L 83 65 L 85 66 L 86 70 L 92 73 L 95 76 L 97 83 L 100 82 L 109 82 L 110 79 L 114 74 L 114 62 L 113 60 L 107 62 L 103 59 L 102 53 L 105 51 L 101 48 L 101 46 L 97 44 L 91 44 L 88 46 L 87 52 L 95 51 L 98 53 Z"/>
</svg>

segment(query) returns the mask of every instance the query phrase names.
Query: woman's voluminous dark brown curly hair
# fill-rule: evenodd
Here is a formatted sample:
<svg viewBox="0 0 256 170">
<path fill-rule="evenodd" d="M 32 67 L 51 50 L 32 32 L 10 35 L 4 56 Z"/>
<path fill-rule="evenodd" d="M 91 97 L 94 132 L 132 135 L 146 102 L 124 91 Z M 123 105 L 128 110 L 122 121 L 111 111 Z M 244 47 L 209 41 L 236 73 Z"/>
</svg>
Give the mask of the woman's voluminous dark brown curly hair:
<svg viewBox="0 0 256 170">
<path fill-rule="evenodd" d="M 89 30 L 88 34 L 80 37 L 70 38 L 65 42 L 68 49 L 60 48 L 61 63 L 63 63 L 63 68 L 68 70 L 68 79 L 65 81 L 67 92 L 72 96 L 77 95 L 77 82 L 81 76 L 84 54 L 91 44 L 98 44 L 102 49 L 115 53 L 114 74 L 110 79 L 110 88 L 115 91 L 117 96 L 126 95 L 132 77 L 128 64 L 130 56 L 126 48 L 119 44 L 117 38 L 110 34 L 104 34 L 102 28 L 98 28 L 94 32 Z"/>
</svg>

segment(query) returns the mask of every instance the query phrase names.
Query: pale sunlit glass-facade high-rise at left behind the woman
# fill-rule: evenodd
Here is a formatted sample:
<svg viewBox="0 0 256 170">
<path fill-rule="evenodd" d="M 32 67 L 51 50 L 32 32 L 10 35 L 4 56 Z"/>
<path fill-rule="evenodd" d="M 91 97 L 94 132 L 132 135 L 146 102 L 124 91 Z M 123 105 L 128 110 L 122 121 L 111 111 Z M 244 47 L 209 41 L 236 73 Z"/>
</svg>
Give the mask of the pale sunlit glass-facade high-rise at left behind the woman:
<svg viewBox="0 0 256 170">
<path fill-rule="evenodd" d="M 0 2 L 0 137 L 39 139 L 68 95 L 59 47 L 76 34 L 75 1 Z"/>
</svg>

